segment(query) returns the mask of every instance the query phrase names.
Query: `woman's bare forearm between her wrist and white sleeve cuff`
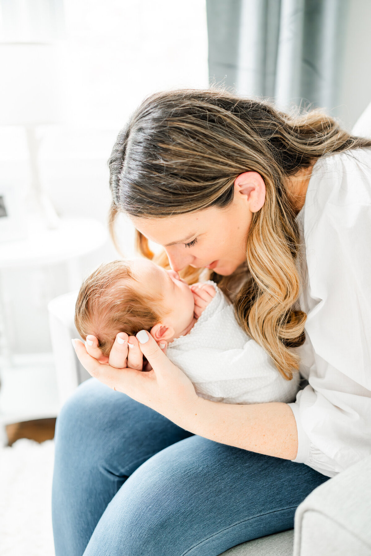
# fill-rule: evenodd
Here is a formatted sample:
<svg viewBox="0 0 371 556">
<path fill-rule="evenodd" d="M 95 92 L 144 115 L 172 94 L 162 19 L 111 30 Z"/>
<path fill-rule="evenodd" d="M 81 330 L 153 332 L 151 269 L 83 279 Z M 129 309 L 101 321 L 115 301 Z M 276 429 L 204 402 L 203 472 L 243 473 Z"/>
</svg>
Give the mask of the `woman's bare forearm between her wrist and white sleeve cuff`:
<svg viewBox="0 0 371 556">
<path fill-rule="evenodd" d="M 290 406 L 284 403 L 223 404 L 199 398 L 185 429 L 244 450 L 295 459 L 298 431 Z"/>
</svg>

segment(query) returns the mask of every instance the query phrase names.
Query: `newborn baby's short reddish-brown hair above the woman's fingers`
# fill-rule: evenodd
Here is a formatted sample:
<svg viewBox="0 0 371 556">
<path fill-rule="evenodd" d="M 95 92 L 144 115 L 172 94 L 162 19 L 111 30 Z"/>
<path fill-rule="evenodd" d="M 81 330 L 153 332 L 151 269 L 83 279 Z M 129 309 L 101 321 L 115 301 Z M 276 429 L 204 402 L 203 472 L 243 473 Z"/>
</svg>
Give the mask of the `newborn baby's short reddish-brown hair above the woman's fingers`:
<svg viewBox="0 0 371 556">
<path fill-rule="evenodd" d="M 118 332 L 135 336 L 150 331 L 161 320 L 156 312 L 160 299 L 142 295 L 130 262 L 116 260 L 100 265 L 81 285 L 75 307 L 75 326 L 86 340 L 98 338 L 103 355 L 109 355 Z"/>
</svg>

